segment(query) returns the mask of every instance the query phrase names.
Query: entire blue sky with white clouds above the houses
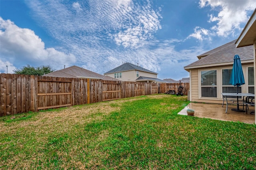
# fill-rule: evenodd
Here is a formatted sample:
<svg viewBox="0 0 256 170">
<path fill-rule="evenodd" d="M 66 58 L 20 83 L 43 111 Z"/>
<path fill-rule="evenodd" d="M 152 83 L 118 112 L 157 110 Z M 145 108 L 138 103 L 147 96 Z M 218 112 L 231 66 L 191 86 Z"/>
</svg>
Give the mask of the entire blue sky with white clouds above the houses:
<svg viewBox="0 0 256 170">
<path fill-rule="evenodd" d="M 256 0 L 0 0 L 0 73 L 123 63 L 189 77 L 196 56 L 237 39 Z M 6 67 L 8 66 L 8 67 Z"/>
</svg>

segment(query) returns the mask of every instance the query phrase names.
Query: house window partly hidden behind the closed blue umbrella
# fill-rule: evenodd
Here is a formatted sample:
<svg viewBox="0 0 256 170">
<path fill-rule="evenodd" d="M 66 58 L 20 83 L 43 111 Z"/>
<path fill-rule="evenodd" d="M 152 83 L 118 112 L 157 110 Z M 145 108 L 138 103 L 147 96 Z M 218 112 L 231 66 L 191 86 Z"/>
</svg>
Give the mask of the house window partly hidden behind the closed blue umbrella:
<svg viewBox="0 0 256 170">
<path fill-rule="evenodd" d="M 230 83 L 232 68 L 222 70 L 222 93 L 236 93 L 236 86 Z M 238 87 L 238 93 L 242 92 L 242 87 Z"/>
</svg>

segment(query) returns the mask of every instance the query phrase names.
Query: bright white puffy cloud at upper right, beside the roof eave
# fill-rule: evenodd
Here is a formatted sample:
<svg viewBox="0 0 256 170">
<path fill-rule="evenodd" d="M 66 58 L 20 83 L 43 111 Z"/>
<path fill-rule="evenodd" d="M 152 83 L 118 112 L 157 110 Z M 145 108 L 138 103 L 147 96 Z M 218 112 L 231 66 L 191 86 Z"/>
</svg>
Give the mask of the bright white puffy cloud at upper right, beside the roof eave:
<svg viewBox="0 0 256 170">
<path fill-rule="evenodd" d="M 252 10 L 256 8 L 255 0 L 200 0 L 199 4 L 201 8 L 211 8 L 208 14 L 211 26 L 207 29 L 195 27 L 194 33 L 187 39 L 193 37 L 203 41 L 211 40 L 213 36 L 236 38 L 237 32 L 242 31 L 241 25 L 245 25 Z"/>
</svg>

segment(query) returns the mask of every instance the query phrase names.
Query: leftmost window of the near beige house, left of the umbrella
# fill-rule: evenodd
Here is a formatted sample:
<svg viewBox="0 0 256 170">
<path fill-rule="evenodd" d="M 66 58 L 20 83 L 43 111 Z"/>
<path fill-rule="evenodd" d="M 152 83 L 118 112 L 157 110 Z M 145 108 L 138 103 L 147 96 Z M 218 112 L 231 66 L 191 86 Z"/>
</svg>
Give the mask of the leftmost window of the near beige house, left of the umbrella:
<svg viewBox="0 0 256 170">
<path fill-rule="evenodd" d="M 201 96 L 217 98 L 217 70 L 201 71 Z"/>
</svg>

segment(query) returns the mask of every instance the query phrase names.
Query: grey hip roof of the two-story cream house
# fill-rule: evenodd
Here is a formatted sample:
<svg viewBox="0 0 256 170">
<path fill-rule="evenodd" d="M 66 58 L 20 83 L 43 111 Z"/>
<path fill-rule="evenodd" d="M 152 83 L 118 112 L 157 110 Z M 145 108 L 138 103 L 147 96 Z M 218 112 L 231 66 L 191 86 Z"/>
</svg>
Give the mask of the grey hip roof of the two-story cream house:
<svg viewBox="0 0 256 170">
<path fill-rule="evenodd" d="M 150 70 L 147 70 L 146 68 L 142 68 L 140 66 L 136 66 L 134 64 L 131 64 L 131 63 L 124 63 L 108 72 L 105 72 L 104 74 L 109 74 L 109 73 L 114 73 L 114 72 L 122 72 L 122 71 L 129 71 L 129 70 L 140 70 L 140 71 L 144 71 L 144 72 L 150 72 L 150 73 L 153 73 L 153 74 L 158 74 L 156 72 L 153 72 L 153 71 L 150 71 Z"/>
</svg>

